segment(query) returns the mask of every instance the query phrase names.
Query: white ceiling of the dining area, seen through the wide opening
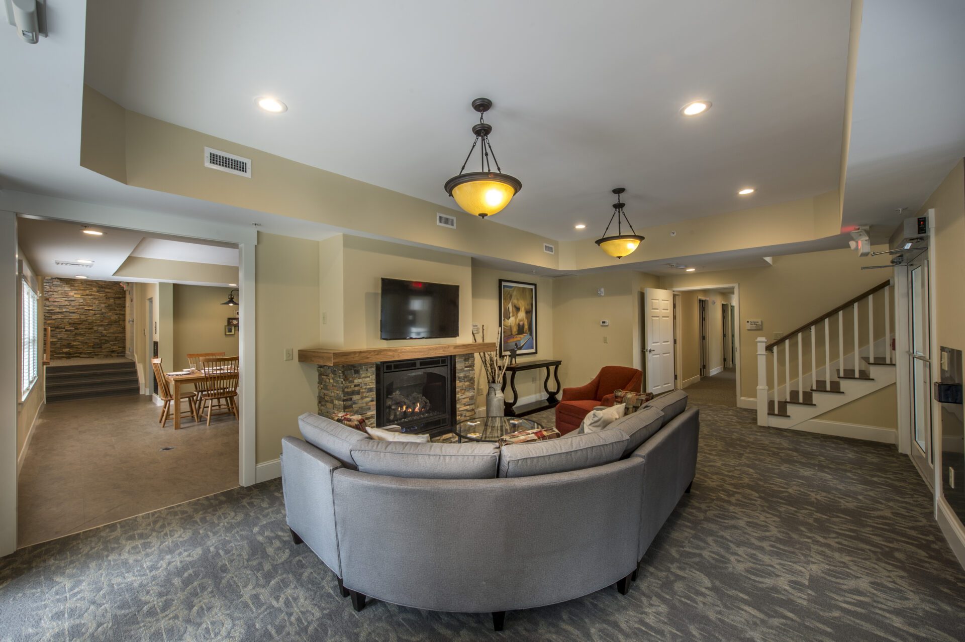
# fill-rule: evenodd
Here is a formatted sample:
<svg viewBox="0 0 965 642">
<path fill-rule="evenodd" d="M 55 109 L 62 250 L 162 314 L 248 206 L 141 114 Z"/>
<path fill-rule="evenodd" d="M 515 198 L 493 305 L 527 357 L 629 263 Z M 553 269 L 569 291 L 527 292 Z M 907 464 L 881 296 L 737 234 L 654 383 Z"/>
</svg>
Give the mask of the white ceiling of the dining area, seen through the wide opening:
<svg viewBox="0 0 965 642">
<path fill-rule="evenodd" d="M 116 227 L 96 227 L 104 232 L 103 235 L 91 236 L 83 233 L 83 228 L 84 226 L 73 223 L 20 217 L 17 219 L 17 242 L 34 271 L 43 277 L 72 279 L 80 275 L 98 281 L 150 281 L 114 276 L 118 268 L 131 255 L 166 260 L 190 260 L 186 256 L 219 256 L 230 259 L 234 253 L 234 263 L 217 264 L 237 265 L 237 250 L 234 248 L 150 237 L 145 236 L 143 232 Z M 165 250 L 168 252 L 166 253 Z M 57 265 L 57 261 L 77 262 L 78 259 L 92 260 L 94 263 L 87 267 Z M 196 260 L 195 262 L 214 263 L 215 261 Z"/>
</svg>

